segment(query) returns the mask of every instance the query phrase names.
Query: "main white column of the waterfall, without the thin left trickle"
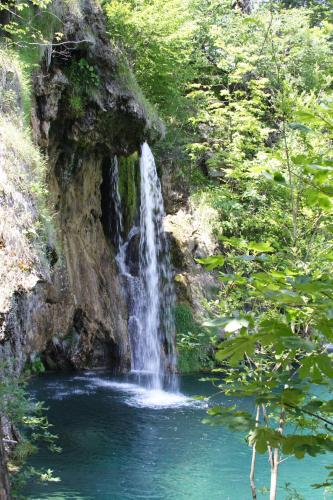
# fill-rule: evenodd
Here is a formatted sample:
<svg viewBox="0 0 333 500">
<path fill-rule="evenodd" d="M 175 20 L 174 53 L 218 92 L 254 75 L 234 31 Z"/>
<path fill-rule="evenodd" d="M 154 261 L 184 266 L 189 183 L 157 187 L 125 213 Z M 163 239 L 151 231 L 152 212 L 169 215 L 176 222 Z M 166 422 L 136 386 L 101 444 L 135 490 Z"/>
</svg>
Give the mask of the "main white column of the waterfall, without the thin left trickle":
<svg viewBox="0 0 333 500">
<path fill-rule="evenodd" d="M 169 248 L 163 230 L 161 184 L 147 143 L 141 150 L 140 174 L 140 278 L 144 293 L 140 298 L 142 331 L 137 339 L 134 368 L 151 372 L 153 385 L 157 386 L 161 385 L 161 377 L 169 361 L 163 359 L 163 341 L 169 348 L 173 346 L 174 297 Z"/>
</svg>

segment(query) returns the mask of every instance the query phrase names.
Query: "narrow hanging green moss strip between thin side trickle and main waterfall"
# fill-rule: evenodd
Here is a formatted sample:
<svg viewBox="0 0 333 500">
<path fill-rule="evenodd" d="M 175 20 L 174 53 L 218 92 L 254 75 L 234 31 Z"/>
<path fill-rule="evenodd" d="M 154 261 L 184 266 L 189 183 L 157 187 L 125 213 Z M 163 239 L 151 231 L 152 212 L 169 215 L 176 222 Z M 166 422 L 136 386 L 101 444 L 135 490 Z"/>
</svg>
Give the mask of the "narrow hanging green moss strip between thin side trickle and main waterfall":
<svg viewBox="0 0 333 500">
<path fill-rule="evenodd" d="M 125 234 L 135 222 L 139 199 L 139 157 L 137 153 L 119 159 L 119 192 L 123 204 Z"/>
</svg>

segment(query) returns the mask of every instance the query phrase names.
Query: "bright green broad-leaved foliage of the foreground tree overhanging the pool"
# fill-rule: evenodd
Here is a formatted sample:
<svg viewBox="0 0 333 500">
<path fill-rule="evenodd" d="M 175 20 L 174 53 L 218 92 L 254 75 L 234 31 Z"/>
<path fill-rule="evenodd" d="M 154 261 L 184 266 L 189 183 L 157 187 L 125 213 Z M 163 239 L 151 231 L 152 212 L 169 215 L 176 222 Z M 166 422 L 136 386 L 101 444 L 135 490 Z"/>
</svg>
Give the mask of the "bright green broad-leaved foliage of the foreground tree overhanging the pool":
<svg viewBox="0 0 333 500">
<path fill-rule="evenodd" d="M 276 474 L 280 455 L 303 458 L 306 454 L 316 456 L 333 450 L 330 399 L 333 368 L 332 356 L 326 350 L 333 338 L 332 239 L 328 231 L 333 179 L 330 156 L 323 154 L 325 142 L 321 155 L 315 147 L 309 147 L 316 146 L 317 133 L 327 141 L 332 137 L 331 100 L 327 98 L 320 104 L 301 108 L 295 116 L 299 120 L 298 129 L 308 127 L 303 141 L 307 141 L 305 151 L 311 153 L 294 156 L 294 145 L 285 142 L 290 170 L 284 184 L 292 216 L 295 215 L 293 176 L 297 175 L 297 181 L 302 182 L 302 191 L 297 195 L 302 209 L 292 217 L 289 246 L 282 247 L 277 240 L 254 243 L 223 237 L 226 255 L 206 262 L 210 268 L 213 265 L 224 270 L 229 264 L 237 269 L 232 274 L 221 272 L 221 281 L 226 283 L 221 298 L 228 294 L 229 317 L 211 322 L 222 327 L 225 335 L 216 354 L 220 362 L 227 362 L 220 369 L 224 379 L 219 388 L 227 394 L 253 397 L 258 409 L 257 418 L 253 419 L 237 406 L 216 407 L 209 410 L 207 422 L 246 430 L 254 452 L 268 452 L 272 473 Z M 294 129 L 295 122 L 292 124 Z M 273 176 L 271 182 L 275 182 Z M 315 220 L 319 218 L 321 224 L 311 227 L 306 218 L 309 213 Z M 310 226 L 310 237 L 305 235 L 303 242 L 293 235 L 299 234 L 304 219 L 306 227 Z M 316 248 L 315 255 L 312 246 Z M 231 283 L 233 289 L 227 291 Z M 239 306 L 233 314 L 230 314 L 230 292 L 231 296 L 236 292 L 233 305 Z M 220 310 L 224 312 L 223 302 L 222 299 Z M 318 392 L 318 388 L 322 389 Z"/>
</svg>

